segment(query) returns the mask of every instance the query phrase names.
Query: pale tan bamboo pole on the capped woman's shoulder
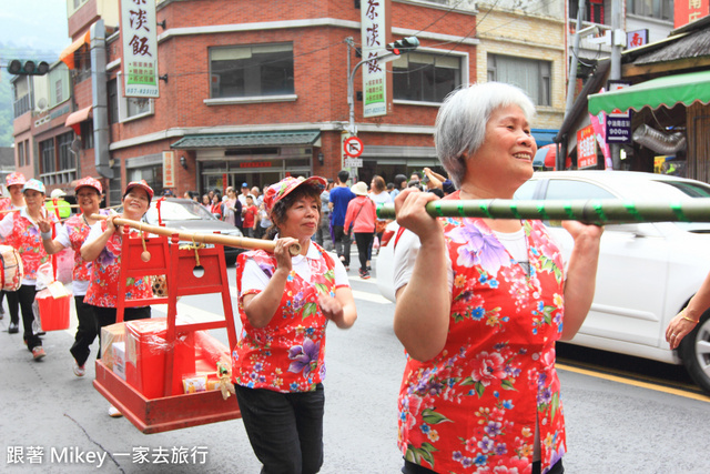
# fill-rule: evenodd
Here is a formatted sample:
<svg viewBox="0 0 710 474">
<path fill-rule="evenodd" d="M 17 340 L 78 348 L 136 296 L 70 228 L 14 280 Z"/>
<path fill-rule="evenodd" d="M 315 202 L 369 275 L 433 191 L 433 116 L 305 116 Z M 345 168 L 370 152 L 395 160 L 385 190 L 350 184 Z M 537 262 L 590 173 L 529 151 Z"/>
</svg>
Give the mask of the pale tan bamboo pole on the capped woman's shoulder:
<svg viewBox="0 0 710 474">
<path fill-rule="evenodd" d="M 102 219 L 108 220 L 108 215 L 99 215 L 91 214 L 91 219 Z M 165 235 L 172 236 L 178 234 L 180 240 L 186 242 L 199 242 L 199 243 L 213 243 L 219 245 L 226 246 L 235 246 L 239 249 L 258 249 L 265 250 L 266 252 L 274 253 L 274 249 L 276 248 L 276 242 L 273 240 L 262 240 L 262 239 L 250 239 L 250 238 L 237 238 L 232 235 L 220 235 L 220 234 L 203 234 L 200 232 L 185 232 L 179 231 L 176 229 L 162 228 L 159 225 L 149 225 L 139 221 L 133 221 L 130 219 L 115 218 L 113 222 L 119 225 L 128 225 L 133 229 L 138 229 L 139 231 L 150 232 L 156 235 Z M 292 255 L 297 255 L 301 252 L 301 245 L 295 243 L 288 248 L 288 252 Z"/>
</svg>

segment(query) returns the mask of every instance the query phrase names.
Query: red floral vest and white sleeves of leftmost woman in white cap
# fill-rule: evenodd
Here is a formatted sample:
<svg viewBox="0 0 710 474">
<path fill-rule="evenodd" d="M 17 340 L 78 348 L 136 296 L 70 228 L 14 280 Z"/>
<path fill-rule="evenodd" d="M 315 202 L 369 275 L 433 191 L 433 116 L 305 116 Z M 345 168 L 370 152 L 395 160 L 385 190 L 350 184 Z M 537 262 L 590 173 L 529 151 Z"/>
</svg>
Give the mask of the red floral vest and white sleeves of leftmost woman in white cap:
<svg viewBox="0 0 710 474">
<path fill-rule="evenodd" d="M 57 224 L 59 220 L 52 213 L 47 219 Z M 0 235 L 2 243 L 13 246 L 20 253 L 24 270 L 23 284 L 33 284 L 37 280 L 37 270 L 42 263 L 49 262 L 50 256 L 42 245 L 40 228 L 27 214 L 27 208 L 18 212 L 8 212 L 0 221 Z"/>
</svg>

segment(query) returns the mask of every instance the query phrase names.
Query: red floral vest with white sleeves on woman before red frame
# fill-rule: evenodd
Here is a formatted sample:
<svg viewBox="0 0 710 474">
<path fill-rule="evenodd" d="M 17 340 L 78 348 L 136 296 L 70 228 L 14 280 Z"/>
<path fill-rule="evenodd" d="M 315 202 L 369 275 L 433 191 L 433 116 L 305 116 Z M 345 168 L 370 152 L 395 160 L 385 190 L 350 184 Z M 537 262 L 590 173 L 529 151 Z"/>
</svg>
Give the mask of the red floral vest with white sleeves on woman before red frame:
<svg viewBox="0 0 710 474">
<path fill-rule="evenodd" d="M 286 280 L 278 310 L 271 322 L 261 329 L 248 323 L 242 299 L 258 293 L 250 290 L 242 294 L 242 274 L 246 259 L 253 259 L 271 278 L 276 270 L 276 258 L 262 250 L 240 254 L 237 264 L 239 311 L 242 332 L 232 351 L 234 367 L 232 381 L 250 389 L 276 392 L 311 392 L 325 377 L 325 317 L 318 306 L 318 293 L 335 297 L 335 262 L 316 243 L 320 259 L 307 259 L 311 281 L 295 271 Z"/>
</svg>

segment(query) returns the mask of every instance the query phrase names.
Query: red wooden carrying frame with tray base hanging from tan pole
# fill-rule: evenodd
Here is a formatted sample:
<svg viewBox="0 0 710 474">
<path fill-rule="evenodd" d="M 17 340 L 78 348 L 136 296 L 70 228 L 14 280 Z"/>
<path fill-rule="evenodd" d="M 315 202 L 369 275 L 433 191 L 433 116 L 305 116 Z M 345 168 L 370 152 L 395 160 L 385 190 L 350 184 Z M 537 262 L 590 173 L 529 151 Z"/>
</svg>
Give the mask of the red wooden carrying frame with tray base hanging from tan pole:
<svg viewBox="0 0 710 474">
<path fill-rule="evenodd" d="M 168 330 L 165 342 L 170 347 L 165 353 L 165 385 L 164 396 L 146 399 L 141 392 L 129 385 L 101 360 L 97 361 L 97 379 L 94 387 L 113 406 L 138 427 L 142 433 L 152 434 L 164 431 L 180 430 L 207 423 L 215 423 L 241 417 L 235 396 L 224 400 L 219 390 L 190 394 L 171 393 L 174 353 L 173 344 L 176 337 L 187 332 L 226 327 L 230 350 L 236 344 L 234 314 L 230 295 L 229 280 L 224 251 L 221 245 L 210 249 L 180 250 L 179 238 L 174 234 L 169 244 L 166 236 L 145 236 L 145 250 L 151 259 L 144 262 L 143 239 L 130 236 L 128 225 L 123 228 L 121 248 L 121 270 L 119 281 L 119 300 L 116 304 L 116 322 L 123 321 L 125 307 L 146 306 L 153 303 L 168 303 Z M 195 276 L 196 254 L 200 266 L 204 269 L 201 278 Z M 154 296 L 142 300 L 125 300 L 126 278 L 145 275 L 165 275 L 168 296 Z M 201 323 L 181 323 L 175 326 L 178 296 L 193 294 L 221 293 L 224 306 L 223 321 Z M 215 367 L 216 369 L 216 367 Z"/>
</svg>

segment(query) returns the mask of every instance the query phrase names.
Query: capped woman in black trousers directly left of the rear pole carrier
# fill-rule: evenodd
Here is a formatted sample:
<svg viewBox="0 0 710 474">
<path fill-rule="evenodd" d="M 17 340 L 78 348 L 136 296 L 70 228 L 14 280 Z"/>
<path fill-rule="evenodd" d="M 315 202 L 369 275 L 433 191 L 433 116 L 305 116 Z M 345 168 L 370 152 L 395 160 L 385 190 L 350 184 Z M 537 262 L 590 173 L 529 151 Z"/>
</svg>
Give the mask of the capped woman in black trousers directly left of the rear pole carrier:
<svg viewBox="0 0 710 474">
<path fill-rule="evenodd" d="M 81 258 L 81 245 L 89 236 L 91 228 L 98 222 L 92 219 L 92 214 L 109 215 L 105 209 L 100 209 L 101 194 L 103 189 L 101 183 L 91 177 L 79 180 L 74 186 L 77 201 L 81 213 L 69 218 L 64 225 L 57 232 L 57 236 L 52 240 L 50 222 L 40 219 L 39 224 L 42 230 L 42 245 L 50 255 L 61 252 L 65 248 L 74 251 L 74 270 L 72 272 L 72 293 L 74 294 L 74 305 L 77 306 L 77 319 L 79 326 L 74 336 L 74 344 L 69 352 L 74 357 L 74 375 L 84 376 L 84 364 L 91 350 L 89 349 L 97 339 L 97 319 L 93 309 L 84 303 L 84 295 L 91 283 L 92 262 L 88 262 Z"/>
</svg>

